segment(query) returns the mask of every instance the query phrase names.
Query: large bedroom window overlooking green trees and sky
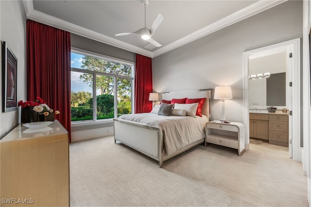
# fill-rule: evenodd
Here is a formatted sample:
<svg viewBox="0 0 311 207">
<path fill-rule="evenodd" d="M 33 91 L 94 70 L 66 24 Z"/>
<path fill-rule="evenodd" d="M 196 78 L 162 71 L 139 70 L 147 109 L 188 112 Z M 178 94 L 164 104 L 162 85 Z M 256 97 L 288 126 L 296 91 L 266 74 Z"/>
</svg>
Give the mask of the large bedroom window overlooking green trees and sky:
<svg viewBox="0 0 311 207">
<path fill-rule="evenodd" d="M 130 114 L 133 68 L 131 62 L 72 51 L 71 121 L 97 121 Z"/>
</svg>

